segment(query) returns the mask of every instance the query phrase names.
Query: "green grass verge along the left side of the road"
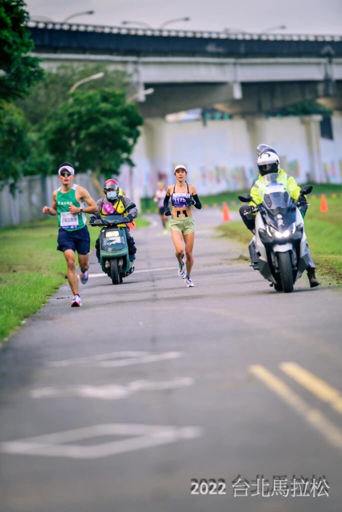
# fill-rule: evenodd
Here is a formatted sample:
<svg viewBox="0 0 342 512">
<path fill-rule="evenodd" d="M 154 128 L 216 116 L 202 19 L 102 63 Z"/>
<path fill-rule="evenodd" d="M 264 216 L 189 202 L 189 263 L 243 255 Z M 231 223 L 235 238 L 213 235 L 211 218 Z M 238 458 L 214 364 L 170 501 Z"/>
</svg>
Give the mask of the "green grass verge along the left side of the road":
<svg viewBox="0 0 342 512">
<path fill-rule="evenodd" d="M 138 218 L 137 228 L 149 223 Z M 0 229 L 0 342 L 66 282 L 57 247 L 57 218 Z M 99 228 L 89 227 L 91 248 Z"/>
</svg>

